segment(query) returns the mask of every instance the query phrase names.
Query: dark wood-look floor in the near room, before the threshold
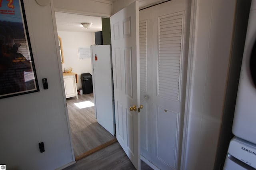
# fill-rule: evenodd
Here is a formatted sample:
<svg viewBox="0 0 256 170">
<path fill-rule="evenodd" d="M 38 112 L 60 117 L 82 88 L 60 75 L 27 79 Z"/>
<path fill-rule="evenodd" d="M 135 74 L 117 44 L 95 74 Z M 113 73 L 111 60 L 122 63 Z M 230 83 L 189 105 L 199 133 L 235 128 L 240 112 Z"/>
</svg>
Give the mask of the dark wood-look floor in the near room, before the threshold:
<svg viewBox="0 0 256 170">
<path fill-rule="evenodd" d="M 120 144 L 114 144 L 95 152 L 64 170 L 136 170 L 122 150 Z M 153 170 L 141 161 L 141 170 Z"/>
</svg>

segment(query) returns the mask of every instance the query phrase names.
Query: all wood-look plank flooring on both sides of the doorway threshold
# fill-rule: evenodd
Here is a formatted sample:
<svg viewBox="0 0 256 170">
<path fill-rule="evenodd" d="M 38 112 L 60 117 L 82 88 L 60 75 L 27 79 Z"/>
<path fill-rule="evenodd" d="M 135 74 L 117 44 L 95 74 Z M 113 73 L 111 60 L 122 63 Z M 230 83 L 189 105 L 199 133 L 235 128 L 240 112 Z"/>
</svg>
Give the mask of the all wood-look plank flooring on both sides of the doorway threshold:
<svg viewBox="0 0 256 170">
<path fill-rule="evenodd" d="M 94 107 L 79 109 L 74 105 L 84 101 L 94 103 L 93 93 L 78 95 L 67 99 L 68 115 L 72 133 L 75 157 L 92 150 L 110 140 L 115 139 L 106 129 L 97 123 Z M 120 144 L 115 142 L 81 160 L 65 170 L 135 170 L 132 162 L 122 150 Z M 141 161 L 141 170 L 152 170 Z"/>
</svg>

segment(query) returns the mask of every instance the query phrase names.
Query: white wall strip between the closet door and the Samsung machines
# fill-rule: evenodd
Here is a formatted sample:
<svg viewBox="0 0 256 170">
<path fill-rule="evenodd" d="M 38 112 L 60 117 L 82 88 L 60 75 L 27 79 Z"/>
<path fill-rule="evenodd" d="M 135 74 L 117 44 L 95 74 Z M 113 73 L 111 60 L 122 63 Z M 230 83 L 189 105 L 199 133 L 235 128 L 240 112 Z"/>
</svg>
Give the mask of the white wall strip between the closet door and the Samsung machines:
<svg viewBox="0 0 256 170">
<path fill-rule="evenodd" d="M 232 45 L 236 1 L 195 0 L 192 69 L 185 170 L 214 168 Z M 189 84 L 190 85 L 190 84 Z"/>
</svg>

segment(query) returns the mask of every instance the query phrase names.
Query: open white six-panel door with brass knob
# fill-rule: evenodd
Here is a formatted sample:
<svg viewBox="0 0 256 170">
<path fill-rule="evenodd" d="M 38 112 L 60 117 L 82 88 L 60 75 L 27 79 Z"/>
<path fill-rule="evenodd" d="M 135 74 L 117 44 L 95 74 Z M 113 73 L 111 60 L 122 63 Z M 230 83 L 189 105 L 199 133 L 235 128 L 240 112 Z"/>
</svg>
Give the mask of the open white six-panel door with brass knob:
<svg viewBox="0 0 256 170">
<path fill-rule="evenodd" d="M 133 2 L 110 17 L 116 138 L 140 169 L 139 9 Z"/>
</svg>

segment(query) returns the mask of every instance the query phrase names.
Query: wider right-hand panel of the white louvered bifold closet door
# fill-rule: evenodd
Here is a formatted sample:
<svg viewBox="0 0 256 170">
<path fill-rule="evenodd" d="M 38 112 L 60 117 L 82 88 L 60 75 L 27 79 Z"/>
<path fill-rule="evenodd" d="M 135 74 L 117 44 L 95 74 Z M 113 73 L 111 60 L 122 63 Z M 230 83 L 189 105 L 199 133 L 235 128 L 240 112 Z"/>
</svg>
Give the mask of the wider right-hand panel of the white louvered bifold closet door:
<svg viewBox="0 0 256 170">
<path fill-rule="evenodd" d="M 169 1 L 170 3 L 174 1 Z M 177 2 L 177 1 L 176 1 Z M 182 126 L 182 66 L 184 57 L 184 11 L 166 13 L 159 8 L 153 16 L 154 42 L 152 107 L 154 127 L 152 138 L 152 162 L 160 169 L 176 170 L 179 165 L 179 150 Z M 161 10 L 161 11 L 160 11 Z M 151 77 L 151 75 L 150 75 Z M 149 83 L 149 85 L 151 82 Z M 183 88 L 184 89 L 184 88 Z"/>
</svg>

